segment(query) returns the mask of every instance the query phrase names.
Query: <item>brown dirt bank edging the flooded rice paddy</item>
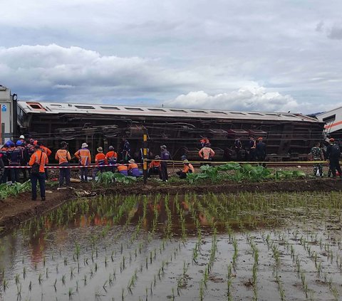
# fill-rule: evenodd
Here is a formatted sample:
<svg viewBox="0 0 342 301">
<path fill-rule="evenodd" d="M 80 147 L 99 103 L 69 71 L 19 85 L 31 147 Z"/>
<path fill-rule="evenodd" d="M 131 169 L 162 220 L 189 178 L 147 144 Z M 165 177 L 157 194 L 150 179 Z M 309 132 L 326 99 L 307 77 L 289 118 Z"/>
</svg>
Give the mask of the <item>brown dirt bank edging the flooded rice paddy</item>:
<svg viewBox="0 0 342 301">
<path fill-rule="evenodd" d="M 26 192 L 16 197 L 0 200 L 0 235 L 20 223 L 39 216 L 66 201 L 76 197 L 89 197 L 99 194 L 185 194 L 195 192 L 196 194 L 212 193 L 234 193 L 240 191 L 263 192 L 263 191 L 340 191 L 342 190 L 341 179 L 296 179 L 291 181 L 269 181 L 261 183 L 232 184 L 224 182 L 221 184 L 190 185 L 183 181 L 161 183 L 149 181 L 144 185 L 142 182 L 134 186 L 117 184 L 113 188 L 100 186 L 93 187 L 92 184 L 72 184 L 70 189 L 57 190 L 48 189 L 46 201 L 31 201 L 31 194 Z"/>
</svg>

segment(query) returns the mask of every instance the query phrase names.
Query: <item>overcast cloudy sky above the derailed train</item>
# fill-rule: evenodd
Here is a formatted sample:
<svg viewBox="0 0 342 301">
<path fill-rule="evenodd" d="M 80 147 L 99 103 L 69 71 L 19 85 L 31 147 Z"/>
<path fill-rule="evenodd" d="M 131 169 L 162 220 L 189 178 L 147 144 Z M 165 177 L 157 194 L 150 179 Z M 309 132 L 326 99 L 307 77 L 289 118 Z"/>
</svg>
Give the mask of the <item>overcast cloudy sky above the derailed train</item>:
<svg viewBox="0 0 342 301">
<path fill-rule="evenodd" d="M 0 84 L 21 100 L 304 113 L 342 103 L 342 1 L 0 4 Z"/>
</svg>

